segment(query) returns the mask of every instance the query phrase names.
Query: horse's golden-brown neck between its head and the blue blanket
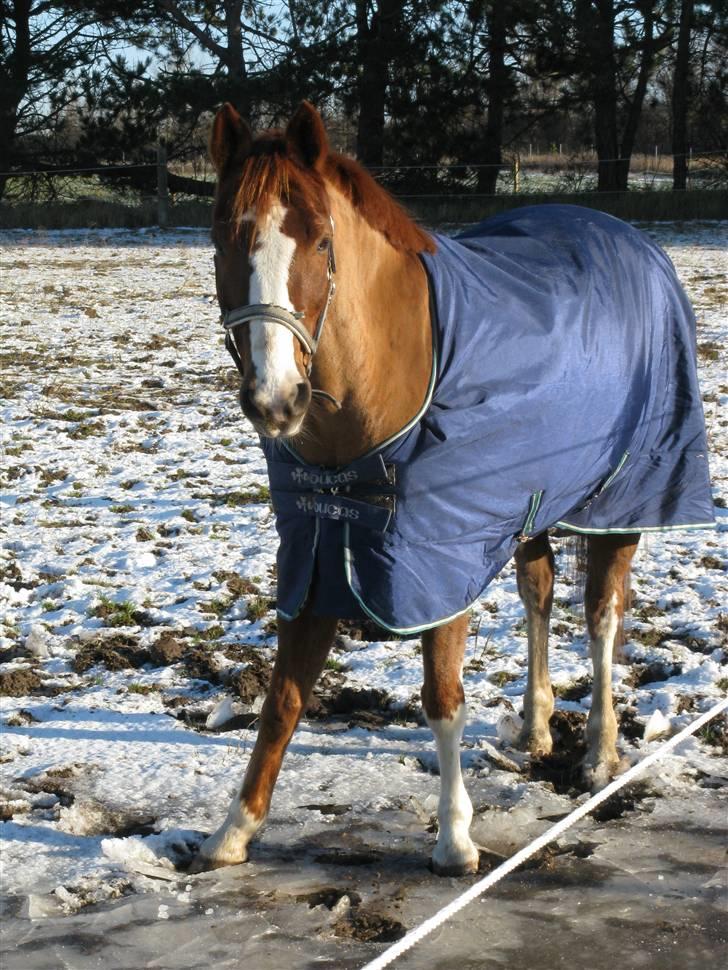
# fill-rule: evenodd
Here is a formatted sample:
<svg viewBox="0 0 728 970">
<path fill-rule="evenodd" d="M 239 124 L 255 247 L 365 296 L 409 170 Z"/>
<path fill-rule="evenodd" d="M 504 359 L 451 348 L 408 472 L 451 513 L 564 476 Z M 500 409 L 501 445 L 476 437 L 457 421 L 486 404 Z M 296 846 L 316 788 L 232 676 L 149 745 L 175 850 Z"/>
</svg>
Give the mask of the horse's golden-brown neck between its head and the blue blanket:
<svg viewBox="0 0 728 970">
<path fill-rule="evenodd" d="M 336 292 L 312 374 L 342 403 L 314 399 L 296 448 L 343 465 L 386 440 L 421 407 L 432 368 L 427 278 L 419 257 L 392 247 L 334 200 Z"/>
</svg>

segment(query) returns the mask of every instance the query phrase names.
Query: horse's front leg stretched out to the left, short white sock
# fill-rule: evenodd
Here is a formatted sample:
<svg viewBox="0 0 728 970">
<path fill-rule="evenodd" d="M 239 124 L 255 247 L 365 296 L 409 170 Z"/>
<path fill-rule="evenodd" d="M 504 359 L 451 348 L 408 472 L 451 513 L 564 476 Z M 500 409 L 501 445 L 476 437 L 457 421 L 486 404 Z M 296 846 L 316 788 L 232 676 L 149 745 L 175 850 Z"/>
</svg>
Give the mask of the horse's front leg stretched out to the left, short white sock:
<svg viewBox="0 0 728 970">
<path fill-rule="evenodd" d="M 242 789 L 227 818 L 202 843 L 192 871 L 236 865 L 248 857 L 248 843 L 268 814 L 288 742 L 306 708 L 334 639 L 336 620 L 311 616 L 278 621 L 278 654 L 260 714 L 258 737 Z"/>
</svg>

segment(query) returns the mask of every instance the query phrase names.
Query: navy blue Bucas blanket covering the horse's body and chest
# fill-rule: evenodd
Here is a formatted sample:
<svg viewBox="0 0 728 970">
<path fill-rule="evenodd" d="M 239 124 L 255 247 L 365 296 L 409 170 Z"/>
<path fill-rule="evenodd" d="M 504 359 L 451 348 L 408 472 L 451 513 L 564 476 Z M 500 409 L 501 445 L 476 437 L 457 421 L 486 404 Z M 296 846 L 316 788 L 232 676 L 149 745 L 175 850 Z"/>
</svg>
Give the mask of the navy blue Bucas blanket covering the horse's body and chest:
<svg viewBox="0 0 728 970">
<path fill-rule="evenodd" d="M 695 321 L 662 250 L 572 206 L 437 243 L 423 257 L 436 359 L 412 424 L 328 478 L 263 442 L 283 616 L 313 589 L 318 613 L 416 632 L 466 610 L 550 526 L 713 525 Z"/>
</svg>

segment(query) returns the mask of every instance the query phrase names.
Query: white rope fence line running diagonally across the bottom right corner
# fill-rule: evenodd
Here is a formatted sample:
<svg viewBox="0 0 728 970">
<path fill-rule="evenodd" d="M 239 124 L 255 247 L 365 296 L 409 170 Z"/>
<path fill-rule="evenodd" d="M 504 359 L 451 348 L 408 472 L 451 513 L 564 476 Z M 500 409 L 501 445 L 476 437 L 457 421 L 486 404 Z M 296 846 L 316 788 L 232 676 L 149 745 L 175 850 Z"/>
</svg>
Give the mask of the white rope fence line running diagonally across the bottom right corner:
<svg viewBox="0 0 728 970">
<path fill-rule="evenodd" d="M 663 755 L 667 754 L 668 751 L 672 751 L 673 748 L 677 747 L 681 741 L 684 741 L 686 738 L 690 737 L 691 734 L 695 734 L 695 732 L 700 730 L 704 724 L 707 724 L 708 721 L 711 721 L 714 717 L 717 717 L 718 714 L 720 714 L 721 711 L 726 710 L 726 708 L 728 708 L 728 698 L 719 701 L 717 704 L 711 707 L 709 711 L 706 711 L 705 714 L 701 714 L 700 717 L 696 718 L 696 720 L 694 720 L 691 724 L 688 724 L 687 727 L 683 728 L 682 731 L 679 731 L 676 735 L 674 735 L 674 737 L 670 738 L 668 741 L 665 741 L 664 744 L 661 744 L 656 751 L 651 752 L 651 754 L 648 754 L 647 757 L 642 761 L 638 761 L 637 764 L 632 765 L 628 771 L 625 771 L 623 775 L 619 775 L 614 779 L 614 781 L 610 782 L 606 788 L 603 788 L 600 792 L 597 792 L 596 795 L 592 795 L 588 801 L 574 809 L 574 811 L 571 812 L 570 815 L 567 815 L 566 818 L 562 818 L 560 822 L 556 823 L 556 825 L 552 825 L 550 829 L 547 829 L 543 833 L 543 835 L 540 835 L 537 839 L 534 839 L 534 841 L 529 843 L 529 845 L 524 846 L 524 848 L 516 852 L 514 856 L 511 856 L 510 859 L 507 859 L 502 865 L 498 866 L 497 869 L 494 869 L 492 872 L 488 873 L 488 875 L 483 879 L 480 879 L 478 882 L 474 883 L 470 889 L 453 899 L 453 901 L 448 903 L 447 906 L 443 906 L 443 908 L 438 910 L 434 916 L 430 916 L 430 918 L 426 919 L 424 923 L 421 923 L 419 926 L 415 927 L 415 929 L 410 930 L 409 933 L 407 933 L 406 936 L 403 936 L 401 940 L 393 943 L 392 946 L 388 947 L 384 951 L 384 953 L 380 953 L 375 960 L 372 960 L 370 963 L 367 963 L 366 966 L 362 967 L 362 970 L 382 970 L 383 967 L 389 966 L 389 964 L 396 960 L 397 957 L 409 950 L 410 947 L 413 947 L 415 943 L 419 943 L 420 940 L 432 933 L 433 930 L 436 930 L 438 926 L 442 926 L 446 920 L 450 919 L 451 916 L 454 916 L 455 913 L 467 906 L 468 903 L 472 903 L 474 899 L 478 898 L 478 896 L 482 896 L 487 889 L 490 889 L 490 887 L 495 885 L 495 883 L 500 882 L 500 880 L 503 879 L 504 876 L 507 876 L 509 872 L 513 872 L 513 870 L 518 868 L 518 866 L 525 862 L 526 859 L 530 859 L 532 855 L 535 855 L 539 849 L 543 849 L 543 847 L 548 845 L 549 842 L 553 842 L 555 838 L 562 834 L 562 832 L 565 832 L 567 829 L 571 828 L 575 822 L 578 822 L 579 819 L 583 818 L 585 815 L 588 815 L 589 812 L 597 807 L 597 805 L 601 805 L 601 803 L 606 801 L 610 795 L 613 795 L 616 791 L 619 791 L 620 788 L 623 788 L 624 785 L 628 784 L 633 778 L 636 778 L 637 775 L 641 774 L 645 768 L 648 768 L 651 764 L 654 764 L 658 758 L 661 758 Z"/>
</svg>

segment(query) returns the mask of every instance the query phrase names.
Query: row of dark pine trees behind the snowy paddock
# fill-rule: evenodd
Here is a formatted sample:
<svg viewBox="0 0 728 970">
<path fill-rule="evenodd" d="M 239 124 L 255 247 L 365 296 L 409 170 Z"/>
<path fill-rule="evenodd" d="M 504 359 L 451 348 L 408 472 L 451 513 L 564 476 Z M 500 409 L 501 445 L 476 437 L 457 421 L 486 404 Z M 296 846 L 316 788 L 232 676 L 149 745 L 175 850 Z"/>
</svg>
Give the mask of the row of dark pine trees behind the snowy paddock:
<svg viewBox="0 0 728 970">
<path fill-rule="evenodd" d="M 408 198 L 728 185 L 728 0 L 0 0 L 0 16 L 5 204 L 142 198 L 160 143 L 165 192 L 207 194 L 217 106 L 270 127 L 302 98 Z"/>
</svg>

